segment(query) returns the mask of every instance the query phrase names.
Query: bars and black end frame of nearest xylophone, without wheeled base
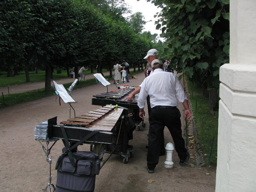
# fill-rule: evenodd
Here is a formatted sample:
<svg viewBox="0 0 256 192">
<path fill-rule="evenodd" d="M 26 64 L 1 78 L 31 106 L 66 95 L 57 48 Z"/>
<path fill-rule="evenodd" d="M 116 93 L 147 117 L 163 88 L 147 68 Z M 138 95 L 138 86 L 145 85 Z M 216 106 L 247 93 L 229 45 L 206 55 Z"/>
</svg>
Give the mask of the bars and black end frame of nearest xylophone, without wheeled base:
<svg viewBox="0 0 256 192">
<path fill-rule="evenodd" d="M 112 132 L 116 128 L 116 124 L 120 117 L 127 115 L 128 112 L 124 108 L 116 108 L 115 106 L 106 105 L 99 109 L 89 111 L 75 118 L 62 121 L 69 141 L 78 141 L 84 138 L 93 130 L 100 130 L 99 133 L 93 135 L 87 142 L 96 143 L 112 143 Z M 64 139 L 60 125 L 53 123 L 49 125 L 51 137 L 56 139 Z"/>
</svg>

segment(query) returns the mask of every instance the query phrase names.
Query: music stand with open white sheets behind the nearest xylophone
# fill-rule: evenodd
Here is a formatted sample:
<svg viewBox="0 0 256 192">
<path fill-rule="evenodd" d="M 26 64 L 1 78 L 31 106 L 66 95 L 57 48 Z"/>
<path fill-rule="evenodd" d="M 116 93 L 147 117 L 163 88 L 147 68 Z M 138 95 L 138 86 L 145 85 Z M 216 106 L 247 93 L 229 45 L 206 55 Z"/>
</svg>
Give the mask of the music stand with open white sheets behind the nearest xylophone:
<svg viewBox="0 0 256 192">
<path fill-rule="evenodd" d="M 68 91 L 66 91 L 65 87 L 62 84 L 57 84 L 55 81 L 53 81 L 54 87 L 55 87 L 55 92 L 56 94 L 58 94 L 61 98 L 61 100 L 63 100 L 63 102 L 66 104 L 68 103 L 70 108 L 69 108 L 69 118 L 71 116 L 71 108 L 74 110 L 74 114 L 76 117 L 76 111 L 75 109 L 71 106 L 71 103 L 77 103 L 77 101 L 73 100 L 73 98 L 70 96 L 70 92 L 72 91 L 72 89 L 74 88 L 76 82 L 78 81 L 78 79 L 75 79 L 75 81 L 70 85 L 70 87 L 68 88 Z"/>
</svg>

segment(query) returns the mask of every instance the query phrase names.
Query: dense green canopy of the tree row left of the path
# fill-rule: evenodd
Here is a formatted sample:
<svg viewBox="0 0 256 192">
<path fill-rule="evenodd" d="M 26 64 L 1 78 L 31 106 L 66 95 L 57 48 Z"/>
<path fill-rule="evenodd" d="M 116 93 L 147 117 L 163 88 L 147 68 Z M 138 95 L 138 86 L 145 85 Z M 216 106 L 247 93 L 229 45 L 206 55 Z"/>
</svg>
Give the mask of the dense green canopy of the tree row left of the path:
<svg viewBox="0 0 256 192">
<path fill-rule="evenodd" d="M 127 12 L 123 0 L 1 1 L 1 69 L 12 76 L 18 66 L 27 75 L 31 64 L 43 68 L 48 91 L 53 65 L 74 66 L 77 76 L 79 66 L 102 63 L 110 73 L 116 60 L 138 66 L 155 45 L 152 36 L 130 28 L 122 17 Z"/>
</svg>

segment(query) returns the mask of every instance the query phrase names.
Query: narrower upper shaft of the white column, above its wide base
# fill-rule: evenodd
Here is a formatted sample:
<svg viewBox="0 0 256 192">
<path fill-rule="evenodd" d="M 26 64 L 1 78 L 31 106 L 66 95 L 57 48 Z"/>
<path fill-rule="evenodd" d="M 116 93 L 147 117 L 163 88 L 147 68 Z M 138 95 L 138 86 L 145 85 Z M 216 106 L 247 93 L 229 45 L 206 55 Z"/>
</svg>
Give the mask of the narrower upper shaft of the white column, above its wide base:
<svg viewBox="0 0 256 192">
<path fill-rule="evenodd" d="M 256 64 L 256 1 L 230 0 L 230 63 Z"/>
</svg>

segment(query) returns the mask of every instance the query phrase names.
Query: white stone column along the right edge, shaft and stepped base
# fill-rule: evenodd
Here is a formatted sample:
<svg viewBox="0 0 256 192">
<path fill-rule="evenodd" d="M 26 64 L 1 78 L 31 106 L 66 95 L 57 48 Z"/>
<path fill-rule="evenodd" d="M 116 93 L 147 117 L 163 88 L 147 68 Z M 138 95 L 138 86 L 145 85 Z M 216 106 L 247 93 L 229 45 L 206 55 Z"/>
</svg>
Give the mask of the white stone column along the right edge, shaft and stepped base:
<svg viewBox="0 0 256 192">
<path fill-rule="evenodd" d="M 220 81 L 215 191 L 256 191 L 255 0 L 230 0 L 230 63 Z"/>
</svg>

